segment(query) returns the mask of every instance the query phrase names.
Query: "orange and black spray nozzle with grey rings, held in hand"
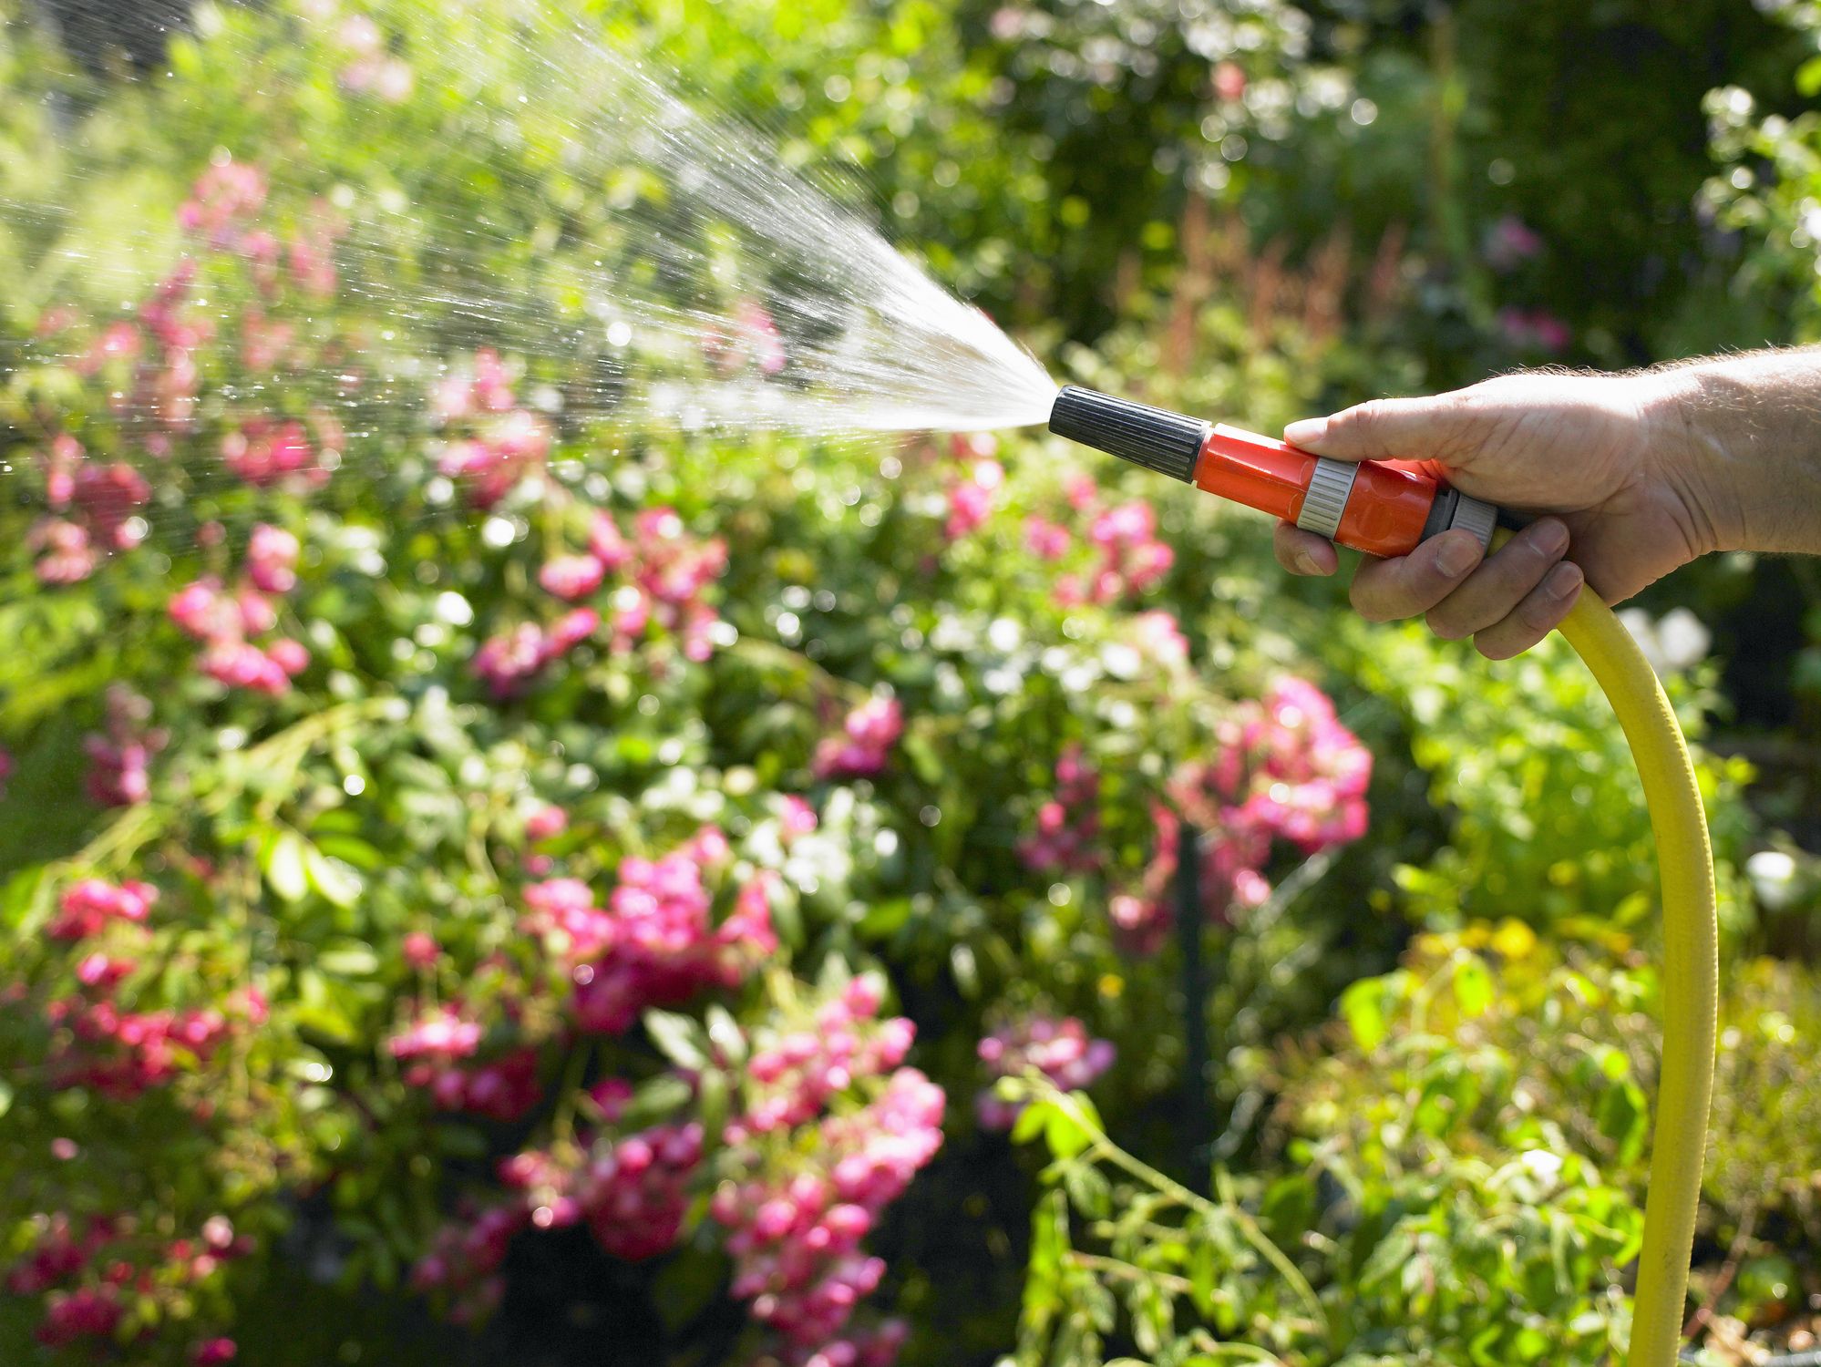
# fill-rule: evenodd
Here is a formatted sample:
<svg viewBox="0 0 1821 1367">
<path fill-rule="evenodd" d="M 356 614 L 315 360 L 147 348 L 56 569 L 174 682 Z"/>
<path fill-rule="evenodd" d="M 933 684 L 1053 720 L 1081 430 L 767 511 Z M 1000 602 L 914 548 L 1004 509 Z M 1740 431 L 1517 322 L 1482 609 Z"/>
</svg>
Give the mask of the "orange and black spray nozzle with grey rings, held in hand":
<svg viewBox="0 0 1821 1367">
<path fill-rule="evenodd" d="M 1377 461 L 1329 461 L 1074 384 L 1056 395 L 1049 430 L 1371 555 L 1408 555 L 1453 528 L 1490 546 L 1499 521 L 1490 502 L 1428 475 Z"/>
</svg>

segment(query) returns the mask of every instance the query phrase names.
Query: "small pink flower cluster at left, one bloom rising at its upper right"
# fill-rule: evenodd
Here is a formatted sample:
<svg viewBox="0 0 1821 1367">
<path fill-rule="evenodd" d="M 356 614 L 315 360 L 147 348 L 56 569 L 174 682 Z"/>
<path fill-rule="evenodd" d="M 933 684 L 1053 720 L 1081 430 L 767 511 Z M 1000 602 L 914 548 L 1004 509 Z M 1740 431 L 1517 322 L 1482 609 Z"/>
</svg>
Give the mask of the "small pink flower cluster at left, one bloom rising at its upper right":
<svg viewBox="0 0 1821 1367">
<path fill-rule="evenodd" d="M 273 599 L 297 586 L 297 537 L 260 524 L 248 541 L 246 579 L 233 592 L 206 575 L 171 595 L 171 621 L 206 646 L 198 661 L 206 675 L 229 688 L 277 695 L 310 666 L 300 641 L 271 635 L 279 628 Z M 260 646 L 251 637 L 270 639 Z"/>
</svg>

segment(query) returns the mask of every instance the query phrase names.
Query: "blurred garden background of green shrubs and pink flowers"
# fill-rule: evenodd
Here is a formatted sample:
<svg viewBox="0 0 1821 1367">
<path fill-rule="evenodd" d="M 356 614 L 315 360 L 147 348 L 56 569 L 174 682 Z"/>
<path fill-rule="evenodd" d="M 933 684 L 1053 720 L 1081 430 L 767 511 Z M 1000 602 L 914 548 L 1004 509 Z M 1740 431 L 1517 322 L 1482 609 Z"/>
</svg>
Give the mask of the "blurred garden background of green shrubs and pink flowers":
<svg viewBox="0 0 1821 1367">
<path fill-rule="evenodd" d="M 810 339 L 599 51 L 1260 431 L 1821 335 L 1816 4 L 0 0 L 0 1356 L 1612 1362 L 1664 1003 L 1579 663 L 1040 433 L 617 410 L 615 280 L 719 291 L 710 380 Z M 1626 621 L 1721 859 L 1688 1336 L 1759 1362 L 1821 568 Z"/>
</svg>

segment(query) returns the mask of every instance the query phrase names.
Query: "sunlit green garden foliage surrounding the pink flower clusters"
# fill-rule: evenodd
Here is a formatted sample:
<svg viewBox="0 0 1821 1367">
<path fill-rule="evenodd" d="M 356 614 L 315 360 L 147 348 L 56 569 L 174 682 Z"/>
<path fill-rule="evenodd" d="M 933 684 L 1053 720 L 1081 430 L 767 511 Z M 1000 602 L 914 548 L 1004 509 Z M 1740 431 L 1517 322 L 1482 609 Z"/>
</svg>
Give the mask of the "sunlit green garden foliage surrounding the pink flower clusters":
<svg viewBox="0 0 1821 1367">
<path fill-rule="evenodd" d="M 1608 362 L 1659 337 L 1748 335 L 1737 319 L 1765 299 L 1794 299 L 1806 335 L 1821 302 L 1805 228 L 1821 133 L 1812 116 L 1757 120 L 1730 93 L 1710 102 L 1723 180 L 1708 206 L 1746 233 L 1739 308 L 1694 322 L 1699 309 L 1683 308 L 1724 273 L 1724 244 L 1673 208 L 1704 167 L 1683 127 L 1708 84 L 1690 53 L 1712 49 L 1724 16 L 1608 5 L 1564 20 L 1544 5 L 1506 24 L 1473 5 L 1415 20 L 1149 0 L 362 9 L 412 67 L 397 102 L 344 89 L 339 38 L 300 7 L 204 5 L 169 75 L 138 84 L 73 71 L 11 13 L 0 29 L 0 175 L 9 204 L 42 209 L 0 215 L 0 459 L 35 479 L 46 442 L 71 433 L 93 459 L 177 471 L 151 510 L 155 539 L 80 586 L 42 588 L 25 550 L 38 510 L 0 508 L 0 639 L 13 646 L 0 743 L 15 759 L 0 799 L 0 990 L 16 1007 L 0 1019 L 0 1254 L 35 1249 L 51 1210 L 127 1212 L 144 1245 L 133 1256 L 155 1261 L 226 1212 L 262 1256 L 135 1305 L 131 1325 L 169 1331 L 135 1352 L 180 1358 L 184 1334 L 239 1311 L 249 1358 L 326 1360 L 341 1340 L 260 1343 L 257 1325 L 279 1323 L 268 1311 L 293 1294 L 330 1307 L 324 1321 L 359 1314 L 375 1343 L 404 1342 L 422 1331 L 393 1292 L 439 1221 L 499 1194 L 493 1159 L 566 1152 L 597 1119 L 621 1138 L 687 1118 L 719 1130 L 743 1103 L 750 1041 L 799 1021 L 825 974 L 870 965 L 920 1027 L 914 1061 L 949 1090 L 967 1159 L 921 1178 L 905 1229 L 883 1236 L 931 1249 L 880 1296 L 901 1291 L 918 1316 L 907 1362 L 1003 1351 L 1014 1311 L 1029 1367 L 1612 1360 L 1663 1003 L 1648 821 L 1579 664 L 1559 643 L 1495 666 L 1419 628 L 1366 628 L 1342 615 L 1340 582 L 1280 579 L 1262 521 L 1100 464 L 1087 466 L 1098 506 L 1155 504 L 1175 564 L 1111 602 L 1062 601 L 1058 581 L 1094 561 L 1080 539 L 1054 562 L 1027 544 L 1031 517 L 1083 517 L 1065 486 L 1082 455 L 1045 437 L 887 448 L 630 430 L 599 400 L 599 357 L 557 331 L 586 317 L 594 271 L 641 268 L 619 209 L 668 222 L 663 187 L 572 153 L 612 106 L 575 98 L 561 44 L 581 15 L 615 47 L 783 126 L 788 164 L 1053 344 L 1071 379 L 1275 431 L 1537 359 L 1502 335 L 1502 308 L 1559 311 L 1572 355 Z M 490 42 L 508 20 L 523 42 Z M 1586 75 L 1610 73 L 1630 40 L 1652 82 L 1688 96 L 1675 118 Z M 1715 62 L 1750 78 L 1777 69 L 1786 44 L 1752 20 Z M 1559 135 L 1564 116 L 1579 137 Z M 260 411 L 341 419 L 341 470 L 308 495 L 249 488 L 217 462 L 251 402 L 226 397 L 249 382 L 233 359 L 253 300 L 242 264 L 204 266 L 222 333 L 198 349 L 198 426 L 173 464 L 115 420 L 109 377 L 27 342 L 53 304 L 100 322 L 169 269 L 188 249 L 175 211 L 217 149 L 268 169 L 280 233 L 319 213 L 357 224 L 335 299 L 290 300 L 308 364 L 259 390 Z M 1511 177 L 1491 175 L 1499 162 Z M 1506 213 L 1548 238 L 1515 271 L 1477 246 Z M 486 231 L 455 240 L 450 224 Z M 1672 251 L 1699 269 L 1664 271 Z M 463 308 L 473 300 L 501 308 Z M 444 437 L 426 413 L 433 379 L 477 348 L 506 353 L 519 391 L 563 400 L 548 473 L 486 513 L 439 488 Z M 330 364 L 344 357 L 353 393 Z M 1005 466 L 992 511 L 949 535 L 954 488 L 987 459 Z M 537 566 L 583 544 L 595 511 L 661 508 L 692 541 L 727 544 L 708 593 L 728 628 L 714 653 L 694 659 L 657 628 L 492 697 L 477 652 L 555 612 Z M 189 668 L 195 646 L 166 613 L 186 581 L 231 577 L 260 521 L 306 548 L 279 630 L 313 659 L 280 697 Z M 197 544 L 211 524 L 224 539 Z M 1180 621 L 1185 663 L 1145 653 L 1138 613 L 1156 608 Z M 1371 744 L 1371 837 L 1313 861 L 1278 850 L 1275 896 L 1206 930 L 1215 985 L 1184 1003 L 1173 950 L 1133 954 L 1107 908 L 1156 854 L 1153 805 L 1171 774 L 1218 754 L 1235 704 L 1286 672 L 1320 677 Z M 122 812 L 80 795 L 109 683 L 149 697 L 168 732 L 148 801 Z M 1714 673 L 1670 688 L 1690 734 L 1706 734 Z M 819 772 L 818 748 L 874 697 L 905 714 L 890 763 Z M 1042 872 L 1018 846 L 1073 746 L 1102 777 L 1102 865 Z M 1703 755 L 1699 772 L 1732 950 L 1755 934 L 1735 874 L 1754 839 L 1750 768 Z M 785 795 L 814 806 L 812 834 L 787 837 Z M 568 830 L 532 837 L 546 803 Z M 519 923 L 526 886 L 552 870 L 606 886 L 628 857 L 705 823 L 728 832 L 741 874 L 778 877 L 776 963 L 581 1039 L 563 967 Z M 209 1058 L 178 1054 L 175 1081 L 131 1103 L 40 1076 L 67 1043 L 42 1007 L 80 990 L 82 963 L 44 930 L 89 874 L 162 890 L 149 937 L 109 930 L 106 948 L 135 959 L 124 1001 L 244 1010 L 257 988 L 271 1012 Z M 732 881 L 714 892 L 725 917 Z M 1459 934 L 1420 936 L 1386 974 L 1411 923 Z M 413 934 L 435 937 L 433 967 L 408 957 Z M 1741 1314 L 1801 1285 L 1806 1260 L 1792 1271 L 1777 1241 L 1817 1238 L 1814 996 L 1805 970 L 1759 965 L 1726 1001 L 1704 1234 L 1748 1254 L 1724 1300 Z M 488 1052 L 535 1054 L 539 1103 L 523 1121 L 439 1110 L 390 1056 L 413 1012 L 457 999 L 486 1023 Z M 1342 1025 L 1311 1036 L 1337 1001 Z M 1218 1139 L 1191 1136 L 1215 1139 L 1209 1190 L 1185 1178 L 1207 1150 L 1180 1161 L 1191 1010 L 1216 1059 L 1200 1099 L 1227 1121 Z M 985 1081 L 983 1027 L 1023 1012 L 1076 1014 L 1120 1050 L 1098 1109 L 1025 1081 L 1036 1092 L 1012 1139 L 1042 1139 L 1051 1158 L 1034 1209 L 1018 1158 L 965 1118 Z M 601 1079 L 634 1085 L 619 1121 L 586 1098 Z M 75 1156 L 46 1163 L 64 1141 Z M 807 1138 L 788 1154 L 812 1158 Z M 708 1156 L 714 1172 L 738 1161 Z M 932 1214 L 956 1209 L 976 1223 Z M 976 1272 L 1009 1254 L 1016 1265 L 1027 1214 L 1014 1307 Z M 954 1247 L 976 1227 L 980 1249 Z M 328 1285 L 293 1285 L 315 1272 L 271 1252 L 286 1230 L 333 1247 Z M 663 1323 L 677 1360 L 730 1351 L 707 1309 L 725 1261 L 701 1203 L 661 1271 L 605 1265 L 577 1276 L 615 1312 L 643 1307 L 626 1342 Z M 0 1305 L 0 1347 L 31 1331 L 16 1311 Z"/>
</svg>

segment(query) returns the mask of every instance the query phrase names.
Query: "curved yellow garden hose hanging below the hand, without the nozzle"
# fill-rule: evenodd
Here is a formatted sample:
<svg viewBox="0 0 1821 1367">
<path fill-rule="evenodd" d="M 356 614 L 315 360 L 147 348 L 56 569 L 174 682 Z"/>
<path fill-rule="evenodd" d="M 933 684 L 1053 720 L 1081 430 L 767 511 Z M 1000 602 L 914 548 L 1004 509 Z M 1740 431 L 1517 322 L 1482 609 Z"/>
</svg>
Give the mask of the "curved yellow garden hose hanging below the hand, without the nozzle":
<svg viewBox="0 0 1821 1367">
<path fill-rule="evenodd" d="M 1694 1249 L 1714 1032 L 1719 1016 L 1719 927 L 1714 850 L 1688 743 L 1655 672 L 1612 608 L 1592 592 L 1561 626 L 1592 670 L 1644 781 L 1663 883 L 1663 1081 L 1652 1134 L 1644 1247 L 1637 1260 L 1630 1367 L 1672 1367 Z"/>
</svg>

